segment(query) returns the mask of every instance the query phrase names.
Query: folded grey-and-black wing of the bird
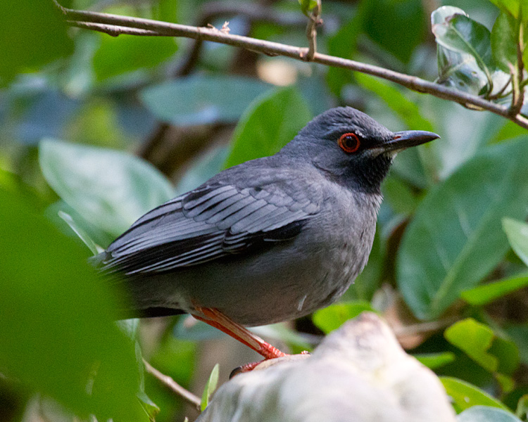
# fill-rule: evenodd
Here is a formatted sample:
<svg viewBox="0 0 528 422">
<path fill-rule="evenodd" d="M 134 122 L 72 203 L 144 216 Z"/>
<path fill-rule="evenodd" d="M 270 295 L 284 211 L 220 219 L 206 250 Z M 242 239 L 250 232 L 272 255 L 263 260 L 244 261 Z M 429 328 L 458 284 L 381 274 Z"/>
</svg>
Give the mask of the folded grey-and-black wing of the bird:
<svg viewBox="0 0 528 422">
<path fill-rule="evenodd" d="M 137 220 L 109 246 L 102 269 L 159 273 L 294 238 L 318 213 L 320 198 L 286 190 L 277 184 L 200 186 Z"/>
</svg>

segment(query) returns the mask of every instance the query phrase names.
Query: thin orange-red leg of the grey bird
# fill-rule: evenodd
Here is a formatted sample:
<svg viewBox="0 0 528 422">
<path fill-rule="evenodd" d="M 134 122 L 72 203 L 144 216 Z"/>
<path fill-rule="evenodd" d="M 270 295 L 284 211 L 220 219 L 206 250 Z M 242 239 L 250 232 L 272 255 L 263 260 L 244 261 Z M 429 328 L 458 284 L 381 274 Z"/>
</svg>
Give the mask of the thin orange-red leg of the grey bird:
<svg viewBox="0 0 528 422">
<path fill-rule="evenodd" d="M 255 352 L 261 354 L 264 359 L 274 359 L 275 357 L 286 356 L 285 353 L 281 352 L 276 347 L 273 347 L 270 343 L 266 343 L 262 338 L 251 333 L 247 328 L 237 324 L 232 319 L 222 314 L 218 309 L 197 306 L 195 306 L 195 309 L 196 311 L 201 312 L 205 318 L 203 318 L 203 316 L 193 315 L 194 318 L 218 328 L 232 338 L 244 343 L 244 345 L 251 347 Z"/>
</svg>

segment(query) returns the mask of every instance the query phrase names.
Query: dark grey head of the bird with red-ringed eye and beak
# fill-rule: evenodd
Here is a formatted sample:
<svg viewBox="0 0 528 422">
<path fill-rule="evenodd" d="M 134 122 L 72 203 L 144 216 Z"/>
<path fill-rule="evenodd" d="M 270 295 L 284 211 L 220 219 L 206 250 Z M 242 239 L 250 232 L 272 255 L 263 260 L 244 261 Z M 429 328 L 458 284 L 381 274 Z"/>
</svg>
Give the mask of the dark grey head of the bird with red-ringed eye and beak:
<svg viewBox="0 0 528 422">
<path fill-rule="evenodd" d="M 311 120 L 284 153 L 311 160 L 341 184 L 379 192 L 396 153 L 439 137 L 420 130 L 391 132 L 355 108 L 339 107 Z"/>
</svg>

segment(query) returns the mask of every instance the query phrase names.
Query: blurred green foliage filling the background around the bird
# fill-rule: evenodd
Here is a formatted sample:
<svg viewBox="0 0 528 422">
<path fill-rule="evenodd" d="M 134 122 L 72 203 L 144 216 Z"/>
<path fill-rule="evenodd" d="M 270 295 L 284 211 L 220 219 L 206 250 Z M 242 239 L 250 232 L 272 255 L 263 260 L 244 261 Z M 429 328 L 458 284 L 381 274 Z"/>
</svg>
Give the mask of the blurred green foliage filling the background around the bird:
<svg viewBox="0 0 528 422">
<path fill-rule="evenodd" d="M 495 4 L 517 2 L 325 0 L 318 51 L 460 82 L 446 68 L 439 75 L 429 16 L 457 6 L 491 30 Z M 306 46 L 294 0 L 62 5 L 186 25 L 229 21 L 233 34 Z M 116 326 L 126 293 L 101 283 L 86 258 L 152 207 L 224 167 L 275 153 L 339 105 L 441 139 L 396 158 L 369 264 L 341 302 L 258 333 L 300 352 L 374 309 L 443 377 L 457 411 L 480 404 L 527 420 L 524 129 L 348 70 L 68 28 L 51 0 L 2 1 L 0 26 L 8 28 L 0 38 L 1 421 L 194 419 L 144 374 L 143 357 L 201 396 L 215 363 L 223 382 L 256 354 L 186 316 Z M 460 87 L 479 94 L 485 84 Z"/>
</svg>

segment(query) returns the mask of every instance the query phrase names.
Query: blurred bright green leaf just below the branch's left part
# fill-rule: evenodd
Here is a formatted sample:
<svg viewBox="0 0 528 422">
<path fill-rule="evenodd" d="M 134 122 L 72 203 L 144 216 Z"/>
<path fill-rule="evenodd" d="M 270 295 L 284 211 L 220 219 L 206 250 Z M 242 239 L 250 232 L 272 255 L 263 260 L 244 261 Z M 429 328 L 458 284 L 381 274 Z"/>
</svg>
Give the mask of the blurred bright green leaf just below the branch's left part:
<svg viewBox="0 0 528 422">
<path fill-rule="evenodd" d="M 154 68 L 177 51 L 172 37 L 110 37 L 106 34 L 100 37 L 101 46 L 94 55 L 94 72 L 99 81 Z"/>
</svg>

